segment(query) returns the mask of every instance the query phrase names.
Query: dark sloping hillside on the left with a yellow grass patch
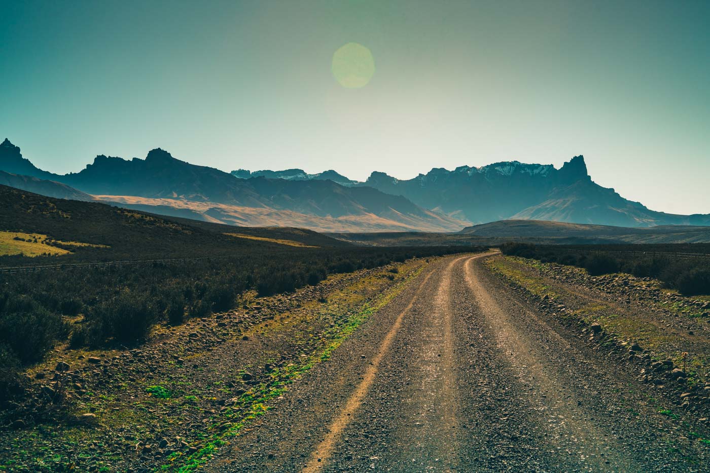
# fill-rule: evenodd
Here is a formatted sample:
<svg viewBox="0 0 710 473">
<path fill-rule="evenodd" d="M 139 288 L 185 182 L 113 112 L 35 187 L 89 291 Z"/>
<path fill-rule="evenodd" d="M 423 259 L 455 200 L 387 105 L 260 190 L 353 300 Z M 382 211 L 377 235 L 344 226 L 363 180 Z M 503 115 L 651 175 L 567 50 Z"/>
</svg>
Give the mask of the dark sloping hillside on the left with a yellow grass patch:
<svg viewBox="0 0 710 473">
<path fill-rule="evenodd" d="M 0 266 L 131 260 L 138 254 L 144 259 L 235 255 L 274 247 L 268 240 L 226 235 L 234 233 L 233 226 L 163 218 L 95 202 L 53 199 L 6 186 L 0 186 L 0 231 L 6 235 Z M 17 236 L 14 233 L 28 236 L 13 240 Z M 345 245 L 297 228 L 239 228 L 239 233 L 312 246 Z M 38 243 L 33 243 L 35 240 Z M 37 257 L 28 261 L 19 252 Z M 43 256 L 43 252 L 53 256 Z"/>
</svg>

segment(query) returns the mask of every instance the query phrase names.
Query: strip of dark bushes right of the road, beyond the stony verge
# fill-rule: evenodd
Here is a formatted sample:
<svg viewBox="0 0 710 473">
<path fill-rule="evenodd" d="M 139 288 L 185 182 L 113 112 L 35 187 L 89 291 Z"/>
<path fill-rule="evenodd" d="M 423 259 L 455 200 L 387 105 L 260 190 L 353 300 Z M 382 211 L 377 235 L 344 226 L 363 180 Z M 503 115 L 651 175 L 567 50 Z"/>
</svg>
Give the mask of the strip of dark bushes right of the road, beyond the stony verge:
<svg viewBox="0 0 710 473">
<path fill-rule="evenodd" d="M 684 296 L 710 294 L 710 245 L 501 245 L 505 255 L 586 269 L 592 276 L 623 272 L 659 279 Z"/>
</svg>

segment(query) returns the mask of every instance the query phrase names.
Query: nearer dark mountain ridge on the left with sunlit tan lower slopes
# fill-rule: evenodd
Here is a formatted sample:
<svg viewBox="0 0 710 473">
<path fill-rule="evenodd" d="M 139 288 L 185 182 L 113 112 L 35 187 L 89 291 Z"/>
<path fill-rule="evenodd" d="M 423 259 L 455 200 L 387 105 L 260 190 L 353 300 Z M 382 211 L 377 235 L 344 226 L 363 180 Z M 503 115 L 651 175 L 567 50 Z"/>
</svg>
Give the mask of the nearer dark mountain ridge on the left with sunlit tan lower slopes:
<svg viewBox="0 0 710 473">
<path fill-rule="evenodd" d="M 53 174 L 35 167 L 6 139 L 0 144 L 0 170 L 66 184 L 120 206 L 241 226 L 456 231 L 466 224 L 372 187 L 344 187 L 328 179 L 238 179 L 159 148 L 145 160 L 99 155 L 81 172 Z"/>
</svg>

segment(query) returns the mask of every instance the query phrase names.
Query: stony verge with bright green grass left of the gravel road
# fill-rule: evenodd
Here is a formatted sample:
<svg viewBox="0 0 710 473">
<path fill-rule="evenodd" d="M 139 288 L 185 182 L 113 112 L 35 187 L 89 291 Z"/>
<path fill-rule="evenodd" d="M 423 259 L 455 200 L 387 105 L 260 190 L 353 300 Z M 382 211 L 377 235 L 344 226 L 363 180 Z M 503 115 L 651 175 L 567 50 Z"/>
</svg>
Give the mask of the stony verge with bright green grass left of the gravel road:
<svg viewBox="0 0 710 473">
<path fill-rule="evenodd" d="M 430 260 L 338 274 L 180 327 L 140 347 L 61 347 L 0 412 L 0 469 L 187 472 L 398 294 Z"/>
</svg>

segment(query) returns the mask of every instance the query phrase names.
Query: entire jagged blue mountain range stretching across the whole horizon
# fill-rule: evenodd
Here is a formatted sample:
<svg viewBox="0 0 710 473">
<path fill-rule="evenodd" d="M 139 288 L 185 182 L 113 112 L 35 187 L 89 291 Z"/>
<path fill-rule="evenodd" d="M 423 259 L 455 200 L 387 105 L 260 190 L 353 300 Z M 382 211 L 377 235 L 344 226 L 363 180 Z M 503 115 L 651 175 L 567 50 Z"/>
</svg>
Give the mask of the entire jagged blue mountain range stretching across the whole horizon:
<svg viewBox="0 0 710 473">
<path fill-rule="evenodd" d="M 413 179 L 372 172 L 365 182 L 356 182 L 334 170 L 226 173 L 175 159 L 157 148 L 144 160 L 99 155 L 80 172 L 53 174 L 35 167 L 6 139 L 0 144 L 0 170 L 52 183 L 12 178 L 16 187 L 30 191 L 43 193 L 45 188 L 44 193 L 60 193 L 53 196 L 102 199 L 240 226 L 447 232 L 505 219 L 624 227 L 710 225 L 709 215 L 652 211 L 596 184 L 581 155 L 559 169 L 510 161 L 452 171 L 435 168 Z M 58 187 L 62 184 L 65 187 Z M 27 188 L 30 185 L 33 189 Z"/>
</svg>

